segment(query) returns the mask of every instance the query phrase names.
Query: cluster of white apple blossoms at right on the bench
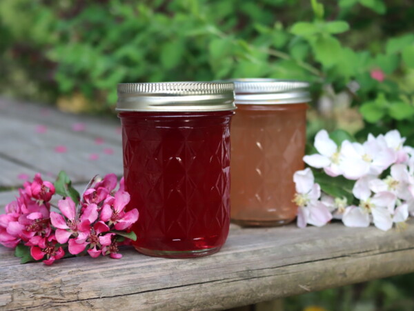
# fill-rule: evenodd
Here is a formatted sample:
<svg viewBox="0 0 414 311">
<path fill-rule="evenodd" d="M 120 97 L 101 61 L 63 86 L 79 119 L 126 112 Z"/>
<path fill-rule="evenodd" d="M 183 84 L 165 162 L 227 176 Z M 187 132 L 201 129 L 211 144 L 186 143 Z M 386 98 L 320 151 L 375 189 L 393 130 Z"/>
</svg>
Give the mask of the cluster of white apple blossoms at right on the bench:
<svg viewBox="0 0 414 311">
<path fill-rule="evenodd" d="M 414 216 L 414 149 L 404 142 L 400 132 L 391 130 L 377 137 L 368 134 L 364 143 L 344 140 L 337 145 L 326 130 L 319 131 L 314 144 L 318 153 L 306 155 L 304 162 L 328 179 L 341 176 L 352 183 L 352 200 L 335 195 L 344 189 L 315 183 L 311 168 L 299 170 L 293 176 L 297 225 L 322 226 L 331 219 L 348 227 L 373 223 L 384 231 L 394 223 L 404 225 Z"/>
</svg>

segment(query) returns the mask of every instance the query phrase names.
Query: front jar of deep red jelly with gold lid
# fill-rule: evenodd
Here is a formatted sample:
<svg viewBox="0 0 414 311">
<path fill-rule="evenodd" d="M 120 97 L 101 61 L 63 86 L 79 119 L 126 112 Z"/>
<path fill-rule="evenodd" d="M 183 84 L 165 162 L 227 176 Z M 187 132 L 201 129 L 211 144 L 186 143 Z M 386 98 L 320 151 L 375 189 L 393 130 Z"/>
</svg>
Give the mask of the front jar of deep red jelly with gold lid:
<svg viewBox="0 0 414 311">
<path fill-rule="evenodd" d="M 127 209 L 139 210 L 136 250 L 188 258 L 224 244 L 233 110 L 233 83 L 119 84 Z"/>
</svg>

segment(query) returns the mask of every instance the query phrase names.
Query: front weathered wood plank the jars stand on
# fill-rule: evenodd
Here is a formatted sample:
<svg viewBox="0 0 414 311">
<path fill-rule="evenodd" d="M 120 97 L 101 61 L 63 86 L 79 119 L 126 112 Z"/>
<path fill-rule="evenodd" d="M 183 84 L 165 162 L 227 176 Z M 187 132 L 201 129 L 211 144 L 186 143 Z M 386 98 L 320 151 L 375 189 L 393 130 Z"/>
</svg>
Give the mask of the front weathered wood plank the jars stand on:
<svg viewBox="0 0 414 311">
<path fill-rule="evenodd" d="M 414 271 L 414 222 L 376 228 L 232 230 L 221 252 L 158 259 L 126 250 L 119 261 L 64 259 L 19 265 L 0 249 L 0 306 L 15 308 L 207 310 L 235 307 Z"/>
</svg>

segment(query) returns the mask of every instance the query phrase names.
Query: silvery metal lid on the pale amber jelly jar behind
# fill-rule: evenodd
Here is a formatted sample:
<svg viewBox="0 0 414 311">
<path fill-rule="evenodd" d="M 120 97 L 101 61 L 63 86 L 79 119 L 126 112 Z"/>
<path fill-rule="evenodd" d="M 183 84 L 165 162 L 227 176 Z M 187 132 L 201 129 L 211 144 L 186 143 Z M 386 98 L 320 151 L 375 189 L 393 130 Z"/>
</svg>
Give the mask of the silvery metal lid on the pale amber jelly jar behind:
<svg viewBox="0 0 414 311">
<path fill-rule="evenodd" d="M 309 83 L 279 79 L 234 79 L 237 104 L 284 104 L 311 101 Z"/>
</svg>

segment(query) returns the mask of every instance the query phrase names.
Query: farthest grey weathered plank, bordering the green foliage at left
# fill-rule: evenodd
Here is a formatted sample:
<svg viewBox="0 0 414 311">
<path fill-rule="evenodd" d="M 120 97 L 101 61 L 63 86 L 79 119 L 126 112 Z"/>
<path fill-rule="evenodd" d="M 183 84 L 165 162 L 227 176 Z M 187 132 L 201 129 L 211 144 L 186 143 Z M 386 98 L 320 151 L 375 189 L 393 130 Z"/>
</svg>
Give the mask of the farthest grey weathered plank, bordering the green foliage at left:
<svg viewBox="0 0 414 311">
<path fill-rule="evenodd" d="M 37 125 L 61 128 L 69 132 L 72 131 L 72 127 L 75 124 L 79 125 L 81 123 L 85 126 L 84 130 L 80 132 L 81 135 L 101 137 L 115 144 L 121 143 L 120 122 L 115 118 L 115 111 L 114 117 L 92 117 L 61 112 L 50 106 L 41 106 L 39 104 L 0 97 L 0 115 L 21 119 L 22 121 L 30 120 Z"/>
</svg>

